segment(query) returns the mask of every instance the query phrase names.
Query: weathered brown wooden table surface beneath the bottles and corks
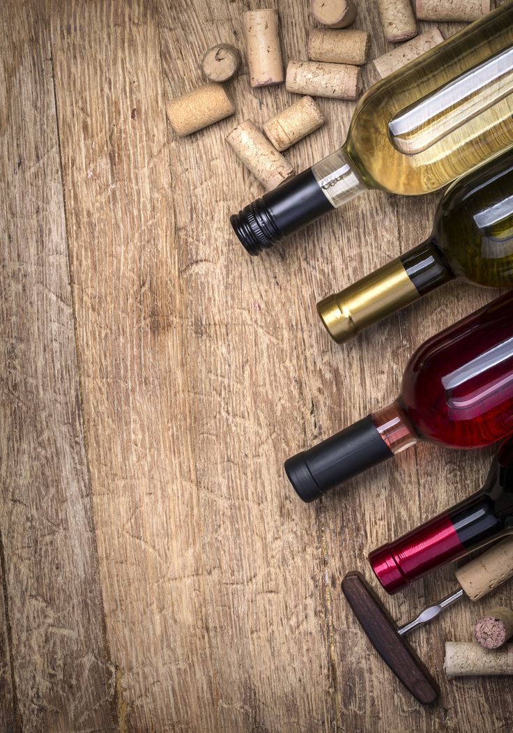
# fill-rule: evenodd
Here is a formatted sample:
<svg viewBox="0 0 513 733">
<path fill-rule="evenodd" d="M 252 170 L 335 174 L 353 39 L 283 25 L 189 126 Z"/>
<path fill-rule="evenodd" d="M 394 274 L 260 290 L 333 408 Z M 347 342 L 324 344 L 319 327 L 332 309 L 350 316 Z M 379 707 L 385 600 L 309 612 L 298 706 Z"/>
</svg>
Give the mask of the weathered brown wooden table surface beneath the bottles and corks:
<svg viewBox="0 0 513 733">
<path fill-rule="evenodd" d="M 286 58 L 306 57 L 307 5 L 277 4 Z M 369 193 L 248 257 L 228 218 L 262 189 L 224 137 L 295 97 L 244 68 L 235 117 L 185 139 L 166 122 L 206 48 L 242 47 L 247 8 L 2 4 L 0 729 L 511 730 L 510 678 L 443 671 L 444 641 L 511 583 L 411 638 L 443 690 L 429 710 L 340 592 L 347 570 L 370 578 L 369 550 L 479 488 L 491 452 L 421 445 L 309 506 L 282 470 L 390 402 L 413 350 L 493 293 L 454 284 L 345 347 L 322 330 L 316 300 L 426 237 L 438 195 Z M 378 56 L 375 0 L 358 13 Z M 325 127 L 287 153 L 298 171 L 342 144 L 354 103 L 320 106 Z M 449 568 L 380 594 L 407 619 L 454 588 Z"/>
</svg>

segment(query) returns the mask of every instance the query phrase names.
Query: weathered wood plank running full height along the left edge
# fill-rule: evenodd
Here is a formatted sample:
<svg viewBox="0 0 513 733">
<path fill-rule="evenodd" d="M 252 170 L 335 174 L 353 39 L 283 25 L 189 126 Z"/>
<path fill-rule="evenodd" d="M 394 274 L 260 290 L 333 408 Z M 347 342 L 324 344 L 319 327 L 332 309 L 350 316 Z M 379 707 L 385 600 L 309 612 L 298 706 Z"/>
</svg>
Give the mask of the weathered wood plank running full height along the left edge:
<svg viewBox="0 0 513 733">
<path fill-rule="evenodd" d="M 0 534 L 23 731 L 116 729 L 78 388 L 48 24 L 0 10 Z M 6 730 L 12 730 L 7 726 Z"/>
</svg>

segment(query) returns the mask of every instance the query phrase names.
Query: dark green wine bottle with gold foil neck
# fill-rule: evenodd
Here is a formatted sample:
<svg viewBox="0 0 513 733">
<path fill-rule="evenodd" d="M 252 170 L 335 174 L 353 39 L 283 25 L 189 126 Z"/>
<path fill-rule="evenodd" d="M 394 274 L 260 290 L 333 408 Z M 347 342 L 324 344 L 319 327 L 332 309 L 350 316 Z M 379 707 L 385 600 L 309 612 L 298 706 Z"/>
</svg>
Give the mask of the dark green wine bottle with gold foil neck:
<svg viewBox="0 0 513 733">
<path fill-rule="evenodd" d="M 328 295 L 317 311 L 342 343 L 454 278 L 513 287 L 512 150 L 451 185 L 424 243 Z"/>
</svg>

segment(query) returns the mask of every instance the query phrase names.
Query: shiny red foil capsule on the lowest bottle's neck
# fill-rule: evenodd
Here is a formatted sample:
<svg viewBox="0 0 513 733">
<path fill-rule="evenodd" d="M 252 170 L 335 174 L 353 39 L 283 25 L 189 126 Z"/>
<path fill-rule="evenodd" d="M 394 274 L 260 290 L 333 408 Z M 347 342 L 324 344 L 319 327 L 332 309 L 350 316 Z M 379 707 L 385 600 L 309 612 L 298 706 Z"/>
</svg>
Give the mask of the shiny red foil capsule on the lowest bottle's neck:
<svg viewBox="0 0 513 733">
<path fill-rule="evenodd" d="M 396 542 L 374 550 L 369 562 L 385 591 L 396 593 L 427 572 L 466 554 L 449 515 L 442 514 Z"/>
</svg>

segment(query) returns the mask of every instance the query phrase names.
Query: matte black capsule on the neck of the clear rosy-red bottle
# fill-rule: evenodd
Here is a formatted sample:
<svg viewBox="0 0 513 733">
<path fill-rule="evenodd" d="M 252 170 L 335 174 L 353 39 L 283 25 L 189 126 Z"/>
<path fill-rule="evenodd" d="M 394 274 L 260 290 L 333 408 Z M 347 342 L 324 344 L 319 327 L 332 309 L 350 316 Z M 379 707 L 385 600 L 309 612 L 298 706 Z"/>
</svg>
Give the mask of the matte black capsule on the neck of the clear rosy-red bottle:
<svg viewBox="0 0 513 733">
<path fill-rule="evenodd" d="M 303 501 L 391 458 L 393 453 L 368 415 L 284 463 L 290 483 Z"/>
</svg>

